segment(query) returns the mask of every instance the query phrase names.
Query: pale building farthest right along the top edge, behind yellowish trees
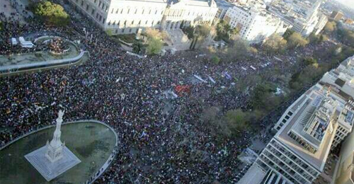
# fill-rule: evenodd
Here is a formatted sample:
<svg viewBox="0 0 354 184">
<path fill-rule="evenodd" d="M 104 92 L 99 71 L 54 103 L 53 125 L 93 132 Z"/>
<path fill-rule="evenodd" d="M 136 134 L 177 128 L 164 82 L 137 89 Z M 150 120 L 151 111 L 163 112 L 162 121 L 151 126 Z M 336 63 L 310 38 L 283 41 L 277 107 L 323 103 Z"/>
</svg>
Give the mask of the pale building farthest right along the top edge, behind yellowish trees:
<svg viewBox="0 0 354 184">
<path fill-rule="evenodd" d="M 314 4 L 310 4 L 309 1 L 275 0 L 267 9 L 290 25 L 290 28 L 297 33 L 303 36 L 311 33 L 317 35 L 328 21 L 324 13 L 319 11 L 322 2 L 323 0 L 316 0 Z"/>
</svg>

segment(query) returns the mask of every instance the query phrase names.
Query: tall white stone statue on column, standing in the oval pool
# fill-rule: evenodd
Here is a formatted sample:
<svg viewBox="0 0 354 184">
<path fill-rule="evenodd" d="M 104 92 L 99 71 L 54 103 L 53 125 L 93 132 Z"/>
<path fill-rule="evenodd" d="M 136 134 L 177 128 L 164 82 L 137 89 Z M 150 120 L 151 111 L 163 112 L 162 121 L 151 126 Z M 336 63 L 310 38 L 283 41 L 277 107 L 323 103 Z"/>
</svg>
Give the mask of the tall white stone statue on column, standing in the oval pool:
<svg viewBox="0 0 354 184">
<path fill-rule="evenodd" d="M 47 140 L 47 151 L 45 151 L 45 157 L 47 157 L 50 162 L 58 161 L 59 159 L 62 159 L 63 156 L 65 142 L 62 143 L 62 141 L 60 140 L 60 135 L 62 134 L 60 128 L 62 127 L 63 115 L 64 112 L 62 110 L 59 110 L 57 118 L 57 127 L 55 128 L 53 139 L 51 142 Z"/>
</svg>

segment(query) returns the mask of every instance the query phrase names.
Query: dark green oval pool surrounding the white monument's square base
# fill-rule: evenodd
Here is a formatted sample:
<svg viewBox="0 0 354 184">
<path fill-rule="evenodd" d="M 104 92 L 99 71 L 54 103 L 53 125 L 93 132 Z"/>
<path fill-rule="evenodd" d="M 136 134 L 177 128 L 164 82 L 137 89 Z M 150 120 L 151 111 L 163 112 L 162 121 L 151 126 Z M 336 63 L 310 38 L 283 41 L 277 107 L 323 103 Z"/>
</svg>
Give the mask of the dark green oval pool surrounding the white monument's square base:
<svg viewBox="0 0 354 184">
<path fill-rule="evenodd" d="M 47 181 L 25 155 L 45 145 L 53 132 L 55 125 L 31 132 L 0 149 L 0 183 L 85 183 L 103 173 L 118 144 L 117 134 L 102 122 L 83 120 L 62 124 L 62 141 L 81 162 Z"/>
</svg>

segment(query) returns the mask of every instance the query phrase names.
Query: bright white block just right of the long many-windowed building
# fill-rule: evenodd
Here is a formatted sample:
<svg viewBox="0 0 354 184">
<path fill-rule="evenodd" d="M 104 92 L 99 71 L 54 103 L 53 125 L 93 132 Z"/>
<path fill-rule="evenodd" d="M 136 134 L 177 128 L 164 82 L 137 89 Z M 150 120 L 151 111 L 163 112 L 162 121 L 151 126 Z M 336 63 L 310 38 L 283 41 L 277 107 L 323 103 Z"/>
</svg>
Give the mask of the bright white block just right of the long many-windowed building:
<svg viewBox="0 0 354 184">
<path fill-rule="evenodd" d="M 239 30 L 239 35 L 249 42 L 262 42 L 274 33 L 284 34 L 287 26 L 265 10 L 264 6 L 234 6 L 229 8 L 224 21 Z"/>
</svg>

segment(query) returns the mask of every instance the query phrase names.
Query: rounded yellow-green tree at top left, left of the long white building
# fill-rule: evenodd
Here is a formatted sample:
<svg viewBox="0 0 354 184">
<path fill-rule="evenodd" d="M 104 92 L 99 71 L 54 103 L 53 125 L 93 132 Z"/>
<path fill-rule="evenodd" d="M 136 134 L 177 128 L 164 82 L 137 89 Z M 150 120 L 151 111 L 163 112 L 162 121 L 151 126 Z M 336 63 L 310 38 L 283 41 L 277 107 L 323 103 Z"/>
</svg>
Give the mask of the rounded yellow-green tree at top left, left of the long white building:
<svg viewBox="0 0 354 184">
<path fill-rule="evenodd" d="M 42 21 L 52 25 L 67 25 L 69 23 L 69 15 L 59 4 L 43 1 L 35 6 L 34 13 Z"/>
</svg>

